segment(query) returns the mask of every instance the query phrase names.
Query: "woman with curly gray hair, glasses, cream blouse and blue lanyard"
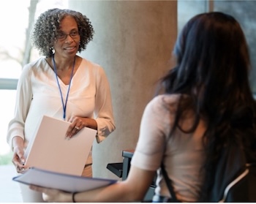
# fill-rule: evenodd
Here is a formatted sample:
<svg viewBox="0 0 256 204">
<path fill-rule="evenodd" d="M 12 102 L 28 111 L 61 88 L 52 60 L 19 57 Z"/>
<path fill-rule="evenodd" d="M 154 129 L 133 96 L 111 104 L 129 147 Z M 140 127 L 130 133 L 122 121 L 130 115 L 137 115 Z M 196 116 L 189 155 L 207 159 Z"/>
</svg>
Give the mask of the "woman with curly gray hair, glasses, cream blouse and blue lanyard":
<svg viewBox="0 0 256 204">
<path fill-rule="evenodd" d="M 7 133 L 18 173 L 23 173 L 24 150 L 42 115 L 71 122 L 67 137 L 85 126 L 96 129 L 98 143 L 115 129 L 104 70 L 77 55 L 86 49 L 93 34 L 89 19 L 72 10 L 48 10 L 35 23 L 32 39 L 43 56 L 23 68 L 15 116 Z M 92 176 L 91 158 L 90 154 L 83 171 L 85 176 Z M 42 194 L 37 197 L 25 186 L 22 189 L 24 202 L 42 202 Z"/>
</svg>

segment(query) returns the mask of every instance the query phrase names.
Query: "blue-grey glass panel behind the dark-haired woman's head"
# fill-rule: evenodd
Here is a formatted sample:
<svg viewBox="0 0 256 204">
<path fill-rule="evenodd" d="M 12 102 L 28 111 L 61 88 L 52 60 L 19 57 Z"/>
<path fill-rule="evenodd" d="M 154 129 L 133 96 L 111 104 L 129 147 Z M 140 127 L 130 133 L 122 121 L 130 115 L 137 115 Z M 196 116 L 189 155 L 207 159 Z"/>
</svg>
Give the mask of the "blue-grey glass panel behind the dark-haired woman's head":
<svg viewBox="0 0 256 204">
<path fill-rule="evenodd" d="M 230 1 L 230 0 L 178 0 L 178 31 L 184 24 L 201 12 L 219 11 L 232 15 L 241 24 L 246 35 L 252 61 L 252 72 L 249 80 L 252 92 L 256 95 L 256 1 Z"/>
</svg>

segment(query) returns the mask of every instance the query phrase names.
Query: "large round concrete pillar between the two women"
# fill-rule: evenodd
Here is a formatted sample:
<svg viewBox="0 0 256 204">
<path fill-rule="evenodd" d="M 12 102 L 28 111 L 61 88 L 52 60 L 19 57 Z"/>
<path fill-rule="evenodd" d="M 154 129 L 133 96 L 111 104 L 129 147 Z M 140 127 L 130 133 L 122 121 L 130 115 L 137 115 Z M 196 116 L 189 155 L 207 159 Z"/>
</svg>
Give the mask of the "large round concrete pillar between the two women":
<svg viewBox="0 0 256 204">
<path fill-rule="evenodd" d="M 106 167 L 122 162 L 122 150 L 135 148 L 143 110 L 170 68 L 177 2 L 69 0 L 69 8 L 91 20 L 94 39 L 81 56 L 105 69 L 112 91 L 116 130 L 94 143 L 94 176 L 118 179 Z"/>
</svg>

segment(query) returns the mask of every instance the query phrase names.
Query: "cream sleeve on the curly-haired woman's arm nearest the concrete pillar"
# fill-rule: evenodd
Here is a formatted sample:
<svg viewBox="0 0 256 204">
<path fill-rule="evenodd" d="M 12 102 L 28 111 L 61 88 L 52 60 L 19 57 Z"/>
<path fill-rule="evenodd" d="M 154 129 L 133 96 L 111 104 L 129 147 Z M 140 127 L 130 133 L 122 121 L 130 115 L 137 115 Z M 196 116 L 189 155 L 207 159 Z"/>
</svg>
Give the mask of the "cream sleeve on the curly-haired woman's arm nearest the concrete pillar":
<svg viewBox="0 0 256 204">
<path fill-rule="evenodd" d="M 97 69 L 96 88 L 94 117 L 97 121 L 97 143 L 100 143 L 116 129 L 110 85 L 102 67 Z"/>
</svg>

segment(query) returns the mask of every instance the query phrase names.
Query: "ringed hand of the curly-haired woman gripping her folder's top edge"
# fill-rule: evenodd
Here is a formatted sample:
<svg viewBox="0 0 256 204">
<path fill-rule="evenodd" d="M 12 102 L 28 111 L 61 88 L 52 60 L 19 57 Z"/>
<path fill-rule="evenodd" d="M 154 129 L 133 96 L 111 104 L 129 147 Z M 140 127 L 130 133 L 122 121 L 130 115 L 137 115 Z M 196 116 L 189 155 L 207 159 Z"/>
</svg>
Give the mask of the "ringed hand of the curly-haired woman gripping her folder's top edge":
<svg viewBox="0 0 256 204">
<path fill-rule="evenodd" d="M 83 118 L 79 116 L 72 116 L 70 118 L 69 122 L 71 123 L 69 125 L 69 128 L 67 129 L 66 137 L 71 138 L 75 134 L 77 134 L 80 129 L 83 129 L 85 126 L 97 129 L 97 122 L 93 118 Z"/>
</svg>

